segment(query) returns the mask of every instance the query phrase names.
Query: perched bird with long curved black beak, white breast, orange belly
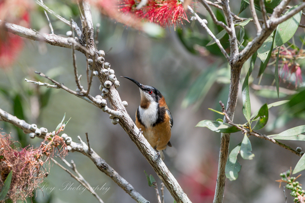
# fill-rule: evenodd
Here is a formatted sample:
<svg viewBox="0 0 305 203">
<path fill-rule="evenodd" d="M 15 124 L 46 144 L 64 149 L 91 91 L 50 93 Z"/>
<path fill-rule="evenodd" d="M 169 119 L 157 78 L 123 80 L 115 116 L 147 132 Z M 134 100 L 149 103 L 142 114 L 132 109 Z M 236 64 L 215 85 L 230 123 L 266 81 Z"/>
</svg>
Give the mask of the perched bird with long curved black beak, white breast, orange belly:
<svg viewBox="0 0 305 203">
<path fill-rule="evenodd" d="M 149 144 L 159 152 L 158 159 L 164 159 L 163 149 L 171 147 L 170 135 L 173 117 L 165 99 L 159 90 L 142 85 L 134 79 L 122 76 L 134 82 L 140 88 L 141 103 L 136 111 L 135 124 L 143 131 Z"/>
</svg>

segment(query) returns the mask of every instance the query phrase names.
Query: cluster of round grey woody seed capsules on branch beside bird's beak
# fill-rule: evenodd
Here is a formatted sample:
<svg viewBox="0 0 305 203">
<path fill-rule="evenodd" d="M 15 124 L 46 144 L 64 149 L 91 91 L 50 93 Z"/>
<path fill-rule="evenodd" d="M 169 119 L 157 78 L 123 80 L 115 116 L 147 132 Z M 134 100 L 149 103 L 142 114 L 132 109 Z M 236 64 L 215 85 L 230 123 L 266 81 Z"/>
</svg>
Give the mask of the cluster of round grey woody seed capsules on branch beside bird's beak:
<svg viewBox="0 0 305 203">
<path fill-rule="evenodd" d="M 100 106 L 102 106 L 102 111 L 106 111 L 108 109 L 107 105 L 107 101 L 105 100 L 108 96 L 107 94 L 109 93 L 109 88 L 114 85 L 114 87 L 118 88 L 120 86 L 120 82 L 117 80 L 117 77 L 114 75 L 114 70 L 110 69 L 110 63 L 105 62 L 105 58 L 103 56 L 105 56 L 105 52 L 103 50 L 99 50 L 98 52 L 98 58 L 97 58 L 97 62 L 102 64 L 102 70 L 101 72 L 99 71 L 93 71 L 93 76 L 98 76 L 99 73 L 102 74 L 103 76 L 106 76 L 108 80 L 106 80 L 104 82 L 104 84 L 101 84 L 99 86 L 99 89 L 102 91 L 101 95 L 97 95 L 95 96 L 96 99 L 96 103 Z M 92 64 L 93 64 L 93 60 L 92 59 L 88 59 L 88 63 L 89 63 L 89 69 L 92 70 Z M 128 103 L 127 101 L 123 101 L 122 102 L 124 107 L 127 107 Z M 114 115 L 109 115 L 109 118 L 112 119 L 111 123 L 113 123 L 114 125 L 117 124 L 119 122 L 119 118 L 115 117 Z"/>
</svg>

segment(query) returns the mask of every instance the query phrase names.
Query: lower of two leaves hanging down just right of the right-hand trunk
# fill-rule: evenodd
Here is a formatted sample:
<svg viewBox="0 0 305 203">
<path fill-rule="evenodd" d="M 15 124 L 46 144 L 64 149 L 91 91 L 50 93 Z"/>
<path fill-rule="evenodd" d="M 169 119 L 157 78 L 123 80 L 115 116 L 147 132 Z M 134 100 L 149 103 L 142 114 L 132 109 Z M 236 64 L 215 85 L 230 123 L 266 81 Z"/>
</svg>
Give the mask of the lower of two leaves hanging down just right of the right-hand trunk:
<svg viewBox="0 0 305 203">
<path fill-rule="evenodd" d="M 229 180 L 236 180 L 238 178 L 238 173 L 242 166 L 237 160 L 237 155 L 240 151 L 240 146 L 242 143 L 239 143 L 229 154 L 228 161 L 225 168 L 226 177 Z"/>
</svg>

